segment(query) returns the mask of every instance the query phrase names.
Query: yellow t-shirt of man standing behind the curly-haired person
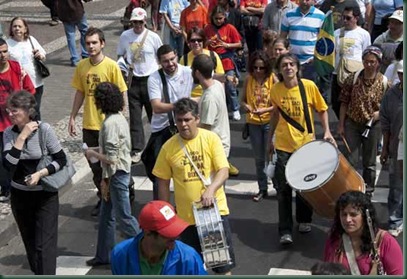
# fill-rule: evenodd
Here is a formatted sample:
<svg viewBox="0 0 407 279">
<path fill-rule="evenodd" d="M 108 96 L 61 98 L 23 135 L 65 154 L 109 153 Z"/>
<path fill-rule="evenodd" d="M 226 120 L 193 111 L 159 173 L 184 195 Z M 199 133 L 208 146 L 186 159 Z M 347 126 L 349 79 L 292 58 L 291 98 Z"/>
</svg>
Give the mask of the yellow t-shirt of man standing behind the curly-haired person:
<svg viewBox="0 0 407 279">
<path fill-rule="evenodd" d="M 90 59 L 82 59 L 76 66 L 72 79 L 72 87 L 84 94 L 83 128 L 100 130 L 104 114 L 96 108 L 95 88 L 101 82 L 116 84 L 120 92 L 127 91 L 126 82 L 116 61 L 106 57 L 98 65 L 93 66 Z"/>
</svg>

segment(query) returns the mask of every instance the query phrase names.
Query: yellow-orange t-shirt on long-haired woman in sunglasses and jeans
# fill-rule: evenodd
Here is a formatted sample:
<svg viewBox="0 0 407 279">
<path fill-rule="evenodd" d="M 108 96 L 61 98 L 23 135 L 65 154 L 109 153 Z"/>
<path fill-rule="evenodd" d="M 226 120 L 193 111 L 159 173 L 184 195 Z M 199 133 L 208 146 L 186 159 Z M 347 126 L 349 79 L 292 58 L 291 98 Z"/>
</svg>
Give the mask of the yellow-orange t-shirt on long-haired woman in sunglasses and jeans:
<svg viewBox="0 0 407 279">
<path fill-rule="evenodd" d="M 247 76 L 245 88 L 246 103 L 254 110 L 271 107 L 271 88 L 273 87 L 273 75 L 264 82 L 263 86 L 259 85 L 251 76 Z M 260 115 L 246 113 L 246 122 L 255 125 L 263 125 L 270 122 L 270 112 Z"/>
</svg>

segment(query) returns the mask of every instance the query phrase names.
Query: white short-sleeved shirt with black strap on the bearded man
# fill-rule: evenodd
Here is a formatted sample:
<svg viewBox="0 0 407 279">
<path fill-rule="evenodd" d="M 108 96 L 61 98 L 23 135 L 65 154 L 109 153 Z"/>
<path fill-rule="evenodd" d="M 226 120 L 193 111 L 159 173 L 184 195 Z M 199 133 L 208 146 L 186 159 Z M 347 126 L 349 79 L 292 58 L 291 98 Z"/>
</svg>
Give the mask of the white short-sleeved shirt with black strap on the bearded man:
<svg viewBox="0 0 407 279">
<path fill-rule="evenodd" d="M 194 81 L 192 78 L 191 69 L 189 67 L 178 64 L 177 72 L 173 76 L 165 74 L 165 77 L 168 84 L 168 96 L 170 97 L 170 102 L 172 104 L 179 99 L 191 97 Z M 148 78 L 148 95 L 150 97 L 150 101 L 160 99 L 161 102 L 165 103 L 163 84 L 158 71 L 152 73 Z M 153 112 L 153 117 L 151 118 L 152 133 L 161 131 L 169 125 L 167 113 Z"/>
</svg>

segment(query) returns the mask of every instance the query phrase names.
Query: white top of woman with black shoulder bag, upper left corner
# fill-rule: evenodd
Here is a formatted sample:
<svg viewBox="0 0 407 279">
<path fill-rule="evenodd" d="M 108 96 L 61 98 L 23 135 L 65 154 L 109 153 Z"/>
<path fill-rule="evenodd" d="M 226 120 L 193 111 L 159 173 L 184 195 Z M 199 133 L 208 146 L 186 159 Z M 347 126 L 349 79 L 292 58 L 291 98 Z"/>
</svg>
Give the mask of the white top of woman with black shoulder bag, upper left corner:
<svg viewBox="0 0 407 279">
<path fill-rule="evenodd" d="M 39 52 L 45 56 L 45 50 L 38 43 L 38 41 L 33 36 L 30 36 L 30 38 L 34 45 L 34 48 L 38 49 Z M 35 70 L 34 54 L 30 40 L 27 39 L 26 41 L 18 42 L 13 40 L 12 38 L 9 38 L 6 41 L 8 45 L 8 51 L 10 53 L 10 59 L 20 63 L 21 67 L 23 67 L 26 73 L 30 76 L 34 87 L 37 88 L 41 85 L 44 85 L 42 77 L 37 75 L 37 72 Z"/>
</svg>

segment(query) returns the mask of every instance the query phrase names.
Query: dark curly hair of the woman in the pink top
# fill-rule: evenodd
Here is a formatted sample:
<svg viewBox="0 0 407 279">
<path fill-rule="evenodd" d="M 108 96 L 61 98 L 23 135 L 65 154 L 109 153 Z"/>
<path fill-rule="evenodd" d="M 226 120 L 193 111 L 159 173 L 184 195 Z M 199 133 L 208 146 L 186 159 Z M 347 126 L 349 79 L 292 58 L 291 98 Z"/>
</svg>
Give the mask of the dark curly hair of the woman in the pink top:
<svg viewBox="0 0 407 279">
<path fill-rule="evenodd" d="M 353 208 L 360 210 L 362 214 L 363 227 L 361 235 L 362 244 L 360 248 L 363 253 L 369 253 L 373 249 L 373 245 L 372 238 L 370 237 L 369 226 L 367 223 L 366 210 L 367 209 L 369 210 L 370 218 L 372 219 L 373 231 L 375 235 L 378 231 L 376 223 L 376 210 L 373 207 L 370 198 L 360 191 L 345 192 L 336 201 L 335 217 L 331 228 L 331 235 L 339 238 L 342 236 L 343 233 L 345 233 L 345 230 L 343 229 L 341 223 L 341 211 L 345 209 L 348 205 L 351 205 Z"/>
</svg>

